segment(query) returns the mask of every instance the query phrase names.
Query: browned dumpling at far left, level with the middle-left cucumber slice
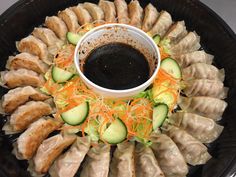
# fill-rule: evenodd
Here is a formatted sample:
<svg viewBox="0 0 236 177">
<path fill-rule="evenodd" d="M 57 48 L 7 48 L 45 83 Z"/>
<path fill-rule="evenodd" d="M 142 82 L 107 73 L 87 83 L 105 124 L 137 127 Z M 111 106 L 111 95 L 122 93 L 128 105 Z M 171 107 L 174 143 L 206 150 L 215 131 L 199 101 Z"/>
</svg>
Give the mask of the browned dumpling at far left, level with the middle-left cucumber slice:
<svg viewBox="0 0 236 177">
<path fill-rule="evenodd" d="M 18 69 L 1 72 L 1 85 L 8 88 L 22 86 L 40 87 L 45 83 L 42 75 L 27 69 Z"/>
</svg>

